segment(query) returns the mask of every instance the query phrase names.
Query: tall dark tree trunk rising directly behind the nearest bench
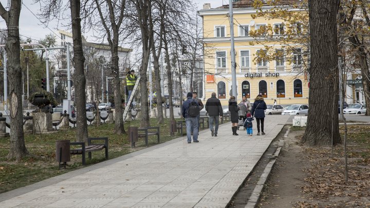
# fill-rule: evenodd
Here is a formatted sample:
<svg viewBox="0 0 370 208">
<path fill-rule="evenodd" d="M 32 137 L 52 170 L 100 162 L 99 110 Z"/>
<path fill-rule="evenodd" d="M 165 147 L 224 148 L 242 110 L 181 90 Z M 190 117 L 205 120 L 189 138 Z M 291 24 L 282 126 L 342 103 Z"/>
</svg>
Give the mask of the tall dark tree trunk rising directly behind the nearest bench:
<svg viewBox="0 0 370 208">
<path fill-rule="evenodd" d="M 77 99 L 76 107 L 79 109 L 77 114 L 76 140 L 79 142 L 87 141 L 87 122 L 86 122 L 86 79 L 84 72 L 85 57 L 82 49 L 80 0 L 70 0 L 71 19 L 72 19 L 72 39 L 73 39 L 73 62 L 75 63 L 75 96 Z"/>
</svg>

